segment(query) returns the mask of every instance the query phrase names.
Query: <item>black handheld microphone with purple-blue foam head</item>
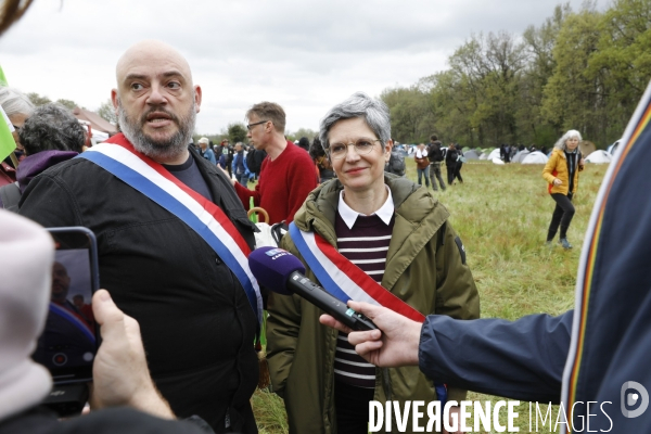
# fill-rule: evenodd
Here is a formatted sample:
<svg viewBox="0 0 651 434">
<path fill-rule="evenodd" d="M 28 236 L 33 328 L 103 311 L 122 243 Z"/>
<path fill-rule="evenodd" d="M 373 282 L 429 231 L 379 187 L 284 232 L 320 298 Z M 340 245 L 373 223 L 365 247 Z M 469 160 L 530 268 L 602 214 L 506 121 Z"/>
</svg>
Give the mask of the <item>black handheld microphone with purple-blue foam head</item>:
<svg viewBox="0 0 651 434">
<path fill-rule="evenodd" d="M 353 330 L 376 330 L 366 316 L 356 312 L 321 286 L 303 276 L 298 258 L 278 247 L 260 247 L 248 255 L 248 267 L 258 283 L 282 294 L 296 294 Z"/>
</svg>

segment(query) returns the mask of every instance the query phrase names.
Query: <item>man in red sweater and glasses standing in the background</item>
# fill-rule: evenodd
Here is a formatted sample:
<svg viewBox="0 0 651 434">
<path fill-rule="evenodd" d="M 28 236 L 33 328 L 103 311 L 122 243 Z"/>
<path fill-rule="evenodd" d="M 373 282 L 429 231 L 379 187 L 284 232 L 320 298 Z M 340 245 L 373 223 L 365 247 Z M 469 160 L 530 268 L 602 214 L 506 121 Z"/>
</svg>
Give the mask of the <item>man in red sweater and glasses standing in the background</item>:
<svg viewBox="0 0 651 434">
<path fill-rule="evenodd" d="M 244 208 L 250 197 L 255 206 L 269 213 L 269 225 L 294 219 L 307 194 L 317 188 L 318 179 L 309 154 L 284 138 L 285 113 L 272 102 L 260 102 L 246 112 L 248 142 L 267 152 L 255 190 L 234 180 L 238 196 Z"/>
</svg>

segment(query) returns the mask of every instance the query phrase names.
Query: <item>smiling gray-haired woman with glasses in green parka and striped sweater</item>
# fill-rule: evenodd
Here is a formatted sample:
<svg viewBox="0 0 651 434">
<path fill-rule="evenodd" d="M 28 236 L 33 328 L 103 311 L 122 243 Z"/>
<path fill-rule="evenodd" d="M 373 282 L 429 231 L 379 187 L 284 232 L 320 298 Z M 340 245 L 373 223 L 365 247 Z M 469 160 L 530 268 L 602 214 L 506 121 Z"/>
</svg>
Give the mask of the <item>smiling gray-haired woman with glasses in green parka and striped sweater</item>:
<svg viewBox="0 0 651 434">
<path fill-rule="evenodd" d="M 328 112 L 320 139 L 336 180 L 308 195 L 294 217 L 301 234 L 290 231 L 281 246 L 303 259 L 294 237 L 314 233 L 396 303 L 422 315 L 477 318 L 477 291 L 447 209 L 426 189 L 384 175 L 390 138 L 388 108 L 365 93 Z M 306 276 L 318 282 L 309 267 Z M 271 382 L 284 398 L 290 432 L 367 433 L 371 400 L 404 406 L 444 397 L 418 368 L 367 363 L 345 334 L 319 323 L 322 311 L 298 296 L 271 294 L 268 308 Z M 465 391 L 447 391 L 447 399 L 464 397 Z"/>
</svg>

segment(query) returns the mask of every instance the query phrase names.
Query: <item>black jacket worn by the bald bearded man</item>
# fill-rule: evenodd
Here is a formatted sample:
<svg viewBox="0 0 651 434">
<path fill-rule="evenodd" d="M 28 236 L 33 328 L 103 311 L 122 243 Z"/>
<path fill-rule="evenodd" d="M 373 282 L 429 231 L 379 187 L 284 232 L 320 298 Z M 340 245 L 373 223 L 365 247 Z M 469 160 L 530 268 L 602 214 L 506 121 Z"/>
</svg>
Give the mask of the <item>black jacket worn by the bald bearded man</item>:
<svg viewBox="0 0 651 434">
<path fill-rule="evenodd" d="M 215 203 L 250 245 L 253 226 L 227 177 L 190 148 Z M 20 214 L 98 239 L 101 286 L 140 323 L 152 376 L 180 418 L 215 432 L 257 432 L 256 317 L 234 275 L 179 218 L 94 163 L 74 158 L 35 178 Z"/>
</svg>

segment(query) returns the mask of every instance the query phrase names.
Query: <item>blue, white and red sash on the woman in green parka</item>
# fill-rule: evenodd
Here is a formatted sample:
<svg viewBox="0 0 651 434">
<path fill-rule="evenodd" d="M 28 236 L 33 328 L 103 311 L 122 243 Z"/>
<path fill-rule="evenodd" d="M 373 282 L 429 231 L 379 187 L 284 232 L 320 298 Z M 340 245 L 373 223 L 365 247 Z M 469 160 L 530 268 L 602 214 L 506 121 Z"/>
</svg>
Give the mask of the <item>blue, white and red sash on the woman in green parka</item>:
<svg viewBox="0 0 651 434">
<path fill-rule="evenodd" d="M 384 306 L 414 321 L 425 321 L 421 312 L 375 282 L 318 233 L 303 232 L 292 222 L 290 234 L 323 289 L 336 298 Z"/>
</svg>

